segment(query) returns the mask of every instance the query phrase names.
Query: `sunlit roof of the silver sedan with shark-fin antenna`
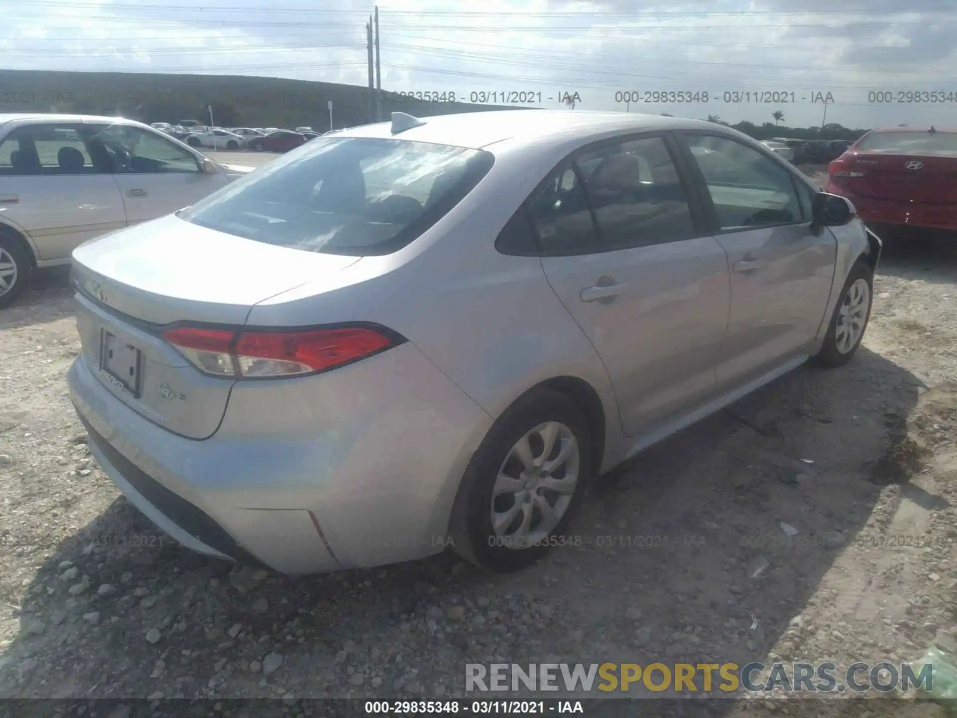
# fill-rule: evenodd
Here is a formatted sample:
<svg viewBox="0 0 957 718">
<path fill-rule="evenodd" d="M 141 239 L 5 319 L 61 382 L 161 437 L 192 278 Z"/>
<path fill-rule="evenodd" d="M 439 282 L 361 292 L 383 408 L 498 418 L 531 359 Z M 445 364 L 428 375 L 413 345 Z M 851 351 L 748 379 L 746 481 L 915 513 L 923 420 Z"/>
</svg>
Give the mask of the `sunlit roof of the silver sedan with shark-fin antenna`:
<svg viewBox="0 0 957 718">
<path fill-rule="evenodd" d="M 721 125 L 660 115 L 575 110 L 490 110 L 421 118 L 422 124 L 396 134 L 391 123 L 363 124 L 337 130 L 339 137 L 385 137 L 436 145 L 481 147 L 503 140 L 513 146 L 549 146 L 569 136 L 587 138 L 610 132 L 711 129 Z M 727 130 L 726 127 L 723 127 Z"/>
</svg>

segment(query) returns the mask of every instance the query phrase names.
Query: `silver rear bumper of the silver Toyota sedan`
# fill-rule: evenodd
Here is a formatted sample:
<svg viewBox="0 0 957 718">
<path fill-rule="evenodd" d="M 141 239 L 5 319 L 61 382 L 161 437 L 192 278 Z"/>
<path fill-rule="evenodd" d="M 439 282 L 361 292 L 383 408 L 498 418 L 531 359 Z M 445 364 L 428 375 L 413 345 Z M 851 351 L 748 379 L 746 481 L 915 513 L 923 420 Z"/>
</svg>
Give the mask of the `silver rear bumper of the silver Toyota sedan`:
<svg viewBox="0 0 957 718">
<path fill-rule="evenodd" d="M 67 384 L 103 471 L 192 550 L 286 573 L 442 550 L 491 419 L 410 343 L 339 372 L 237 388 L 204 440 L 138 415 L 82 357 Z"/>
</svg>

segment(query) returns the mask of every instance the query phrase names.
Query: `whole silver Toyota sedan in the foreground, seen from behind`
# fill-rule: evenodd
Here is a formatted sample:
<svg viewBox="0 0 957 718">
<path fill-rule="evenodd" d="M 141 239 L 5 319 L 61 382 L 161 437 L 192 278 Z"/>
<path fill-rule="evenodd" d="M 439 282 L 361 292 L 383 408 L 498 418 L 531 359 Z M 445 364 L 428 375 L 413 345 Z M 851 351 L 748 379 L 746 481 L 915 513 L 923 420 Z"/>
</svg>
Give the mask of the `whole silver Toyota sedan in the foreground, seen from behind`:
<svg viewBox="0 0 957 718">
<path fill-rule="evenodd" d="M 513 571 L 595 474 L 850 361 L 878 258 L 716 123 L 395 113 L 78 248 L 67 382 L 102 470 L 193 550 Z"/>
</svg>

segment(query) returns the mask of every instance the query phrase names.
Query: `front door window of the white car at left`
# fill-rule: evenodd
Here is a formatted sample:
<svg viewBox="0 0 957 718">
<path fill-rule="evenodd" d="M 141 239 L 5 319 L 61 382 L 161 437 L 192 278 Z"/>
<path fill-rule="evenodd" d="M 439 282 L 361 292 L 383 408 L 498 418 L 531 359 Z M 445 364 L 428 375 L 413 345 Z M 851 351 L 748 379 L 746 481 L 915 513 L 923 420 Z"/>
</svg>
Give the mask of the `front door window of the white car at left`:
<svg viewBox="0 0 957 718">
<path fill-rule="evenodd" d="M 157 174 L 202 171 L 191 152 L 140 127 L 125 124 L 98 127 L 91 137 L 91 143 L 105 149 L 117 172 Z"/>
</svg>

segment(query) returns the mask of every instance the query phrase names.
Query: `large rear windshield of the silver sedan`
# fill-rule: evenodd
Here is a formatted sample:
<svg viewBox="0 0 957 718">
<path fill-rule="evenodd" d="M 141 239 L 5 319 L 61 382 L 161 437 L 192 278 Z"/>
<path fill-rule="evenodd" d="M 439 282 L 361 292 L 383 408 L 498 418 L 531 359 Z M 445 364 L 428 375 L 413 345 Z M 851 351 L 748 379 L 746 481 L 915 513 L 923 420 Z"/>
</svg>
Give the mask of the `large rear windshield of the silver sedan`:
<svg viewBox="0 0 957 718">
<path fill-rule="evenodd" d="M 313 140 L 179 216 L 307 252 L 386 255 L 448 213 L 492 167 L 489 152 L 405 140 Z"/>
</svg>

